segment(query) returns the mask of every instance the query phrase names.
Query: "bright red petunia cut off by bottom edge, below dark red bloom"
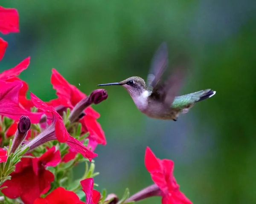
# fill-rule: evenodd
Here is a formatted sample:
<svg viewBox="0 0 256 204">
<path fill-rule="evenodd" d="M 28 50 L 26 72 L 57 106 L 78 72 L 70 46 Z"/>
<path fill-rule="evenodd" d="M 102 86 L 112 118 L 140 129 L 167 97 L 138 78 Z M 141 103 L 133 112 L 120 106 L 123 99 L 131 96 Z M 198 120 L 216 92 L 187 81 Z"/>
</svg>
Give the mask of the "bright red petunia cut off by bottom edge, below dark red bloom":
<svg viewBox="0 0 256 204">
<path fill-rule="evenodd" d="M 85 204 L 73 191 L 58 187 L 45 198 L 37 198 L 34 204 Z"/>
</svg>

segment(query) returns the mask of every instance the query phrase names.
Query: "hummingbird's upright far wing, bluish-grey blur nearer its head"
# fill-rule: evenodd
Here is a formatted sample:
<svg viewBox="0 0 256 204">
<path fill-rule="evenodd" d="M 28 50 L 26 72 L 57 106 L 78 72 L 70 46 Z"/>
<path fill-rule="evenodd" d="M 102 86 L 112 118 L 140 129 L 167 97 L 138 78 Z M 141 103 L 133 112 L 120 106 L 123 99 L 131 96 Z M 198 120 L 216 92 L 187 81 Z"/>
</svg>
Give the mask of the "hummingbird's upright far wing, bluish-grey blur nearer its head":
<svg viewBox="0 0 256 204">
<path fill-rule="evenodd" d="M 166 43 L 162 43 L 155 52 L 152 61 L 151 68 L 149 70 L 147 78 L 147 86 L 153 89 L 157 82 L 160 80 L 165 68 L 168 64 L 168 49 Z"/>
</svg>

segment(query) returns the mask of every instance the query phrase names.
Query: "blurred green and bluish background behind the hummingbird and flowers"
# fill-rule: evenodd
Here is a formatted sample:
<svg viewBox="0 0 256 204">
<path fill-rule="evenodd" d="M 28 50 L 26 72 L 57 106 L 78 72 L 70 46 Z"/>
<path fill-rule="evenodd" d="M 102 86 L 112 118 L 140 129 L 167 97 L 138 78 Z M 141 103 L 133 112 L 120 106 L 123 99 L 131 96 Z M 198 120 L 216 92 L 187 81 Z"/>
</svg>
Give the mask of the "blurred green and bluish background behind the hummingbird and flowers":
<svg viewBox="0 0 256 204">
<path fill-rule="evenodd" d="M 195 204 L 256 203 L 256 3 L 255 0 L 1 0 L 20 15 L 20 33 L 0 70 L 31 56 L 20 77 L 44 101 L 55 98 L 55 68 L 90 94 L 99 83 L 133 75 L 146 78 L 151 57 L 166 41 L 172 57 L 182 48 L 193 59 L 180 94 L 211 88 L 177 122 L 147 118 L 122 87 L 106 87 L 94 105 L 107 145 L 96 153 L 95 178 L 122 196 L 152 184 L 145 148 L 175 162 L 180 190 Z M 171 63 L 170 63 L 171 64 Z M 76 168 L 78 174 L 83 166 Z M 140 204 L 160 203 L 160 197 Z"/>
</svg>

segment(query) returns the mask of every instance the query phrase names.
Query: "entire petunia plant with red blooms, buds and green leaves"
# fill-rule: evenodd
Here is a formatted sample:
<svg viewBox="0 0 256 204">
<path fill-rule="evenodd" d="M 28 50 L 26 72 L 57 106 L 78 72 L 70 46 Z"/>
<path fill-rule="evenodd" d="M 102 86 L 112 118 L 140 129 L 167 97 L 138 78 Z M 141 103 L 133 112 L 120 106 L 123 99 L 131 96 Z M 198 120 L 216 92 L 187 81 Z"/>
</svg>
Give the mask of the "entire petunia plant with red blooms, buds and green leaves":
<svg viewBox="0 0 256 204">
<path fill-rule="evenodd" d="M 16 9 L 0 6 L 0 32 L 19 32 L 18 21 Z M 0 60 L 7 45 L 0 38 Z M 51 83 L 58 98 L 44 102 L 31 93 L 29 100 L 26 98 L 27 83 L 17 77 L 27 69 L 29 61 L 30 57 L 27 57 L 0 74 L 0 130 L 3 134 L 0 143 L 2 147 L 9 144 L 5 149 L 0 148 L 2 195 L 11 199 L 20 197 L 24 204 L 85 204 L 76 195 L 80 190 L 82 194 L 84 191 L 87 204 L 116 204 L 119 200 L 116 195 L 110 194 L 104 200 L 104 196 L 93 189 L 93 178 L 88 178 L 97 175 L 93 162 L 90 168 L 86 167 L 80 184 L 72 191 L 64 188 L 69 187 L 67 180 L 71 167 L 77 162 L 91 162 L 97 156 L 93 152 L 96 146 L 106 144 L 104 132 L 97 122 L 100 115 L 90 105 L 105 100 L 107 93 L 97 89 L 86 96 L 52 69 Z M 32 112 L 35 108 L 37 112 Z M 12 136 L 13 141 L 10 140 Z M 8 143 L 3 143 L 6 141 Z M 128 199 L 128 193 L 125 193 L 122 201 L 139 201 L 160 195 L 162 204 L 192 204 L 179 190 L 173 175 L 173 161 L 156 158 L 147 147 L 145 167 L 155 184 Z"/>
</svg>

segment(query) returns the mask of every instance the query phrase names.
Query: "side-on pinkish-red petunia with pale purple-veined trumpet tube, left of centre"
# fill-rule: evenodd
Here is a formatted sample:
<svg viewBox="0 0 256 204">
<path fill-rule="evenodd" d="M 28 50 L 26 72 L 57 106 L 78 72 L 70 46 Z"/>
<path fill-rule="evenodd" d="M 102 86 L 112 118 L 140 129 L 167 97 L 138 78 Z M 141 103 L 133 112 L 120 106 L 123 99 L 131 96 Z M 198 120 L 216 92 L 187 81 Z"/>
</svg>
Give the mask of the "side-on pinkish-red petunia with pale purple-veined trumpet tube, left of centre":
<svg viewBox="0 0 256 204">
<path fill-rule="evenodd" d="M 34 105 L 37 108 L 43 110 L 48 117 L 51 117 L 52 121 L 51 124 L 43 132 L 41 132 L 33 140 L 27 143 L 24 148 L 29 147 L 29 151 L 31 151 L 35 147 L 38 147 L 47 141 L 58 139 L 59 142 L 67 143 L 68 146 L 70 146 L 76 152 L 81 153 L 81 155 L 83 155 L 85 158 L 88 158 L 89 161 L 97 156 L 96 153 L 92 152 L 80 141 L 68 134 L 61 116 L 52 106 L 48 106 L 46 103 L 44 103 L 41 99 L 39 99 L 32 93 L 30 96 Z"/>
</svg>

